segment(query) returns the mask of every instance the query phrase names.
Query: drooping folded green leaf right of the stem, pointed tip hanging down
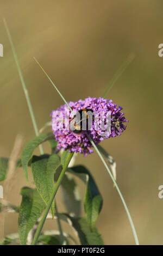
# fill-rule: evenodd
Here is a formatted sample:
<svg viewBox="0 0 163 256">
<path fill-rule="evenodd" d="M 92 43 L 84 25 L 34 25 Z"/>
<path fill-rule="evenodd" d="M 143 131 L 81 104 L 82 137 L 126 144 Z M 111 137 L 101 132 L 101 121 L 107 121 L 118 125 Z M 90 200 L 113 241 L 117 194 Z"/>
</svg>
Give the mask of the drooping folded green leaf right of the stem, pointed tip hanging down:
<svg viewBox="0 0 163 256">
<path fill-rule="evenodd" d="M 84 166 L 74 166 L 69 168 L 68 171 L 76 174 L 86 184 L 84 209 L 87 222 L 89 223 L 90 229 L 92 229 L 97 220 L 99 212 L 102 209 L 102 196 L 99 193 L 95 180 L 91 176 L 89 170 L 87 170 Z"/>
</svg>

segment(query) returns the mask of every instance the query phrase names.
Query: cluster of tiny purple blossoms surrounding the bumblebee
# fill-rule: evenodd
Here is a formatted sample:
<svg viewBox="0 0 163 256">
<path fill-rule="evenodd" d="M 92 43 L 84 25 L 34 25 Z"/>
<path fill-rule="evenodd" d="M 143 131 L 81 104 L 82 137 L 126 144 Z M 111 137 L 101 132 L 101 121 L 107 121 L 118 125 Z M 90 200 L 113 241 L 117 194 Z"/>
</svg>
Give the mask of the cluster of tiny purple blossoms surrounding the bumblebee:
<svg viewBox="0 0 163 256">
<path fill-rule="evenodd" d="M 70 101 L 68 103 L 72 108 L 74 114 L 76 114 L 81 109 L 86 108 L 87 111 L 89 109 L 93 112 L 102 113 L 103 119 L 106 120 L 108 113 L 111 117 L 111 130 L 106 136 L 102 136 L 101 129 L 95 129 L 95 120 L 92 120 L 92 128 L 91 130 L 82 131 L 80 134 L 74 133 L 72 130 L 67 129 L 67 125 L 64 124 L 62 129 L 53 129 L 53 123 L 56 121 L 56 113 L 61 112 L 62 118 L 65 119 L 65 113 L 70 117 L 68 122 L 70 122 L 74 116 L 74 114 L 67 108 L 66 104 L 62 105 L 56 111 L 52 111 L 52 131 L 54 133 L 55 139 L 58 141 L 58 149 L 69 149 L 70 152 L 75 153 L 83 153 L 84 156 L 87 154 L 91 154 L 93 152 L 92 144 L 87 138 L 89 135 L 93 142 L 97 145 L 99 142 L 103 141 L 104 139 L 110 137 L 116 137 L 121 135 L 123 130 L 126 130 L 126 125 L 124 123 L 128 122 L 124 117 L 123 113 L 121 112 L 122 107 L 117 107 L 116 104 L 112 103 L 112 100 L 106 100 L 102 97 L 98 99 L 96 97 L 87 97 L 85 100 L 79 100 L 77 102 Z M 100 123 L 100 121 L 99 121 Z"/>
</svg>

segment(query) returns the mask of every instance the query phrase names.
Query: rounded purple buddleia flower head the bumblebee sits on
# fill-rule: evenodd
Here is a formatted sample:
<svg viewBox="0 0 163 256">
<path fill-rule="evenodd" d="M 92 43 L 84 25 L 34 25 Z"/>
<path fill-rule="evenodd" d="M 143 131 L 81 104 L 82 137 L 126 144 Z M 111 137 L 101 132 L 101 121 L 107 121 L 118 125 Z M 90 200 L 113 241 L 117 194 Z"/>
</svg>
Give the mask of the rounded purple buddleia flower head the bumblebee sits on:
<svg viewBox="0 0 163 256">
<path fill-rule="evenodd" d="M 51 113 L 52 131 L 55 140 L 58 141 L 59 150 L 69 149 L 70 152 L 79 152 L 86 156 L 93 152 L 92 144 L 87 135 L 89 135 L 97 145 L 104 139 L 120 136 L 121 133 L 126 130 L 124 123 L 128 122 L 128 120 L 124 117 L 124 113 L 121 112 L 122 107 L 112 103 L 112 100 L 107 100 L 102 97 L 87 97 L 85 100 L 78 100 L 76 102 L 70 101 L 68 105 L 73 112 L 71 112 L 65 104 Z M 77 113 L 81 115 L 81 111 L 83 111 L 84 114 L 86 112 L 92 113 L 91 118 L 89 115 L 85 115 L 86 122 L 91 119 L 92 123 L 90 127 L 87 127 L 88 125 L 86 124 L 85 130 L 75 132 L 75 130 L 70 129 L 70 124 Z M 96 113 L 98 117 L 95 117 L 93 113 Z M 110 121 L 109 130 L 107 130 L 108 120 Z M 81 119 L 78 123 L 82 123 L 82 121 Z"/>
</svg>

